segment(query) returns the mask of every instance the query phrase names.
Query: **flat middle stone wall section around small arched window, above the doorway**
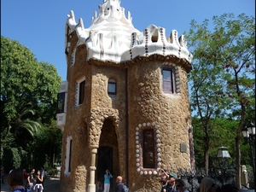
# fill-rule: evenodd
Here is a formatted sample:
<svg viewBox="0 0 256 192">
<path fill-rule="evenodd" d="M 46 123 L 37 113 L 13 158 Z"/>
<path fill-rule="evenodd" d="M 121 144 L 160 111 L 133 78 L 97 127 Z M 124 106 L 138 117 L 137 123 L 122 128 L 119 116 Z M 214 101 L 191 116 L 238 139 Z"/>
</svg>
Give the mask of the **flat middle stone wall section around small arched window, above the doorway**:
<svg viewBox="0 0 256 192">
<path fill-rule="evenodd" d="M 116 96 L 108 96 L 108 79 L 114 79 L 117 85 Z M 90 137 L 91 143 L 98 145 L 100 141 L 102 123 L 105 119 L 112 119 L 115 125 L 115 133 L 118 146 L 113 146 L 115 154 L 113 166 L 116 167 L 113 172 L 117 177 L 119 174 L 125 176 L 126 145 L 125 145 L 125 124 L 126 124 L 126 103 L 125 103 L 125 68 L 97 66 L 92 67 L 92 94 L 91 94 L 91 112 L 93 118 L 90 119 Z M 108 146 L 111 143 L 107 143 Z M 116 148 L 116 149 L 115 149 Z M 113 179 L 114 180 L 114 179 Z"/>
</svg>

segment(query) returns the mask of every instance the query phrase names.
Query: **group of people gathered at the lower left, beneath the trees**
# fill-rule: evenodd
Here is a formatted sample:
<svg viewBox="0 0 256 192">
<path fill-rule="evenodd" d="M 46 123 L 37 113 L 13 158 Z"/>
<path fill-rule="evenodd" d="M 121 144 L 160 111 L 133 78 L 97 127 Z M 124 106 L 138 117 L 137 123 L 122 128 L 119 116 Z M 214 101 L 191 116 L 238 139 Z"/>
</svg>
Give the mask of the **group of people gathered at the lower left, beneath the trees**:
<svg viewBox="0 0 256 192">
<path fill-rule="evenodd" d="M 44 166 L 36 173 L 35 169 L 29 173 L 26 172 L 26 169 L 12 169 L 8 174 L 7 183 L 14 192 L 43 192 L 45 178 Z"/>
</svg>

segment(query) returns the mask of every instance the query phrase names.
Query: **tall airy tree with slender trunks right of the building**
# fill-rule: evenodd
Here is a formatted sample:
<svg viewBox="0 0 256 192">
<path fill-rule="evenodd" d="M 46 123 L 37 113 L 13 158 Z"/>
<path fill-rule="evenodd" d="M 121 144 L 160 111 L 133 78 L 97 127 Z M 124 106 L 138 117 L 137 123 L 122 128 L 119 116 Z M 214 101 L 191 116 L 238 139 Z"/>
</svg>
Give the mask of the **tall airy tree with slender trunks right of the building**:
<svg viewBox="0 0 256 192">
<path fill-rule="evenodd" d="M 255 19 L 244 14 L 213 16 L 199 25 L 190 23 L 187 40 L 194 55 L 191 84 L 191 107 L 201 119 L 204 130 L 205 162 L 208 168 L 210 119 L 230 117 L 239 120 L 236 127 L 236 166 L 241 166 L 241 129 L 247 108 L 255 98 Z M 241 170 L 236 182 L 241 188 Z"/>
</svg>

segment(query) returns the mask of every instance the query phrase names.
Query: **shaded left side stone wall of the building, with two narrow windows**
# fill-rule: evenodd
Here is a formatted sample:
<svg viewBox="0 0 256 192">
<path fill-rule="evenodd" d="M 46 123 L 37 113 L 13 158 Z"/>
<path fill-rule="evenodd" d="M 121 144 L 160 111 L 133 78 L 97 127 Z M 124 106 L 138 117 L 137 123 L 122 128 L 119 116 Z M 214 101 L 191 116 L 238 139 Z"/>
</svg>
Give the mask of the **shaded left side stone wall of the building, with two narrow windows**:
<svg viewBox="0 0 256 192">
<path fill-rule="evenodd" d="M 73 43 L 76 42 L 77 36 L 70 35 Z M 90 65 L 86 63 L 85 45 L 79 46 L 76 50 L 76 62 L 71 64 L 72 52 L 75 44 L 71 44 L 67 57 L 67 120 L 65 131 L 63 132 L 62 148 L 62 166 L 61 166 L 61 191 L 84 191 L 89 184 L 90 174 L 90 148 L 88 148 L 88 125 L 86 119 L 90 116 Z M 85 77 L 85 95 L 84 102 L 75 107 L 76 81 Z M 73 137 L 72 150 L 72 172 L 69 176 L 64 174 L 66 169 L 65 161 L 67 158 L 67 137 Z M 86 146 L 86 147 L 84 147 Z"/>
</svg>

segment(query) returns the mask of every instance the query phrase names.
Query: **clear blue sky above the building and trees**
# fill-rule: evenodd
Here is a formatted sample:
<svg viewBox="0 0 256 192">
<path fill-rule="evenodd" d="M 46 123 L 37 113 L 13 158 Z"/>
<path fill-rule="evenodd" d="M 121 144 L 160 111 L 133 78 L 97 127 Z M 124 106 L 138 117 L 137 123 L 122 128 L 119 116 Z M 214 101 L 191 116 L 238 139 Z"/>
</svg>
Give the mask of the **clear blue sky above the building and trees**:
<svg viewBox="0 0 256 192">
<path fill-rule="evenodd" d="M 38 59 L 53 64 L 66 80 L 64 54 L 65 24 L 70 10 L 84 28 L 91 24 L 94 11 L 103 0 L 1 0 L 1 35 L 26 45 Z M 189 23 L 212 20 L 213 15 L 242 13 L 255 17 L 255 0 L 122 0 L 121 7 L 131 12 L 132 23 L 140 32 L 150 24 L 176 29 L 178 36 L 189 31 Z M 211 22 L 210 22 L 211 23 Z"/>
</svg>

